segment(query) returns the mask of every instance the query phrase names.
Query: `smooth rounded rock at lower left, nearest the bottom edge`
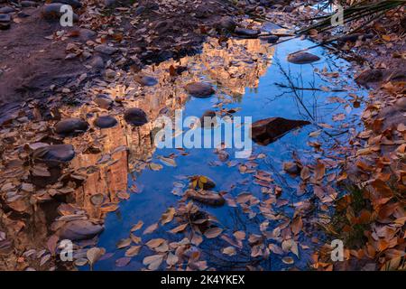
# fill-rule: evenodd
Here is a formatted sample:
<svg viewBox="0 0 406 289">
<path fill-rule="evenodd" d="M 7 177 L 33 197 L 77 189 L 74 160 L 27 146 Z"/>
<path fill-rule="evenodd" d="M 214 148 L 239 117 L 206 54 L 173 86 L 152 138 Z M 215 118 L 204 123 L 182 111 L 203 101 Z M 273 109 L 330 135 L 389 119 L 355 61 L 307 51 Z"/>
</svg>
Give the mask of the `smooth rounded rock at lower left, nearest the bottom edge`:
<svg viewBox="0 0 406 289">
<path fill-rule="evenodd" d="M 65 223 L 59 231 L 60 239 L 71 241 L 94 238 L 104 230 L 104 227 L 86 219 L 77 219 Z"/>
</svg>

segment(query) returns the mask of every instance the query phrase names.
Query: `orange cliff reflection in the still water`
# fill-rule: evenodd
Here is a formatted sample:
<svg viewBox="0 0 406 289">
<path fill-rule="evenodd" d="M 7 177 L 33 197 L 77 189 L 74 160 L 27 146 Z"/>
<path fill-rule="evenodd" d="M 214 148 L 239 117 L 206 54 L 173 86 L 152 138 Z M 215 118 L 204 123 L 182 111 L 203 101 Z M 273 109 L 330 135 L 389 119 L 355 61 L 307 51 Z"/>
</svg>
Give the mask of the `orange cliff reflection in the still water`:
<svg viewBox="0 0 406 289">
<path fill-rule="evenodd" d="M 155 151 L 151 134 L 153 121 L 160 115 L 174 117 L 175 109 L 182 108 L 188 101 L 184 86 L 203 79 L 217 86 L 217 94 L 213 98 L 223 94 L 241 96 L 245 88 L 258 86 L 259 78 L 271 64 L 273 51 L 274 48 L 258 39 L 228 40 L 221 44 L 216 39 L 210 39 L 204 44 L 201 54 L 180 61 L 165 61 L 143 70 L 145 75 L 158 80 L 155 86 L 142 87 L 134 81 L 133 73 L 127 73 L 104 88 L 94 87 L 94 95 L 108 93 L 120 101 L 121 106 L 117 105 L 108 112 L 117 118 L 119 124 L 101 130 L 95 128 L 84 137 L 72 139 L 75 147 L 86 148 L 88 144 L 94 144 L 100 150 L 92 154 L 84 151 L 71 163 L 74 168 L 87 174 L 86 181 L 75 191 L 74 203 L 85 209 L 89 217 L 96 219 L 102 219 L 106 212 L 114 210 L 115 207 L 108 204 L 118 203 L 117 193 L 128 190 L 129 172 L 143 170 L 152 158 Z M 185 67 L 187 70 L 174 77 L 169 72 L 171 66 Z M 142 108 L 149 123 L 140 127 L 128 125 L 122 117 L 128 107 Z M 97 115 L 105 113 L 89 102 L 86 106 L 73 109 L 69 115 L 92 115 L 86 117 L 91 124 Z M 92 203 L 91 197 L 95 194 L 104 195 L 103 206 Z"/>
</svg>

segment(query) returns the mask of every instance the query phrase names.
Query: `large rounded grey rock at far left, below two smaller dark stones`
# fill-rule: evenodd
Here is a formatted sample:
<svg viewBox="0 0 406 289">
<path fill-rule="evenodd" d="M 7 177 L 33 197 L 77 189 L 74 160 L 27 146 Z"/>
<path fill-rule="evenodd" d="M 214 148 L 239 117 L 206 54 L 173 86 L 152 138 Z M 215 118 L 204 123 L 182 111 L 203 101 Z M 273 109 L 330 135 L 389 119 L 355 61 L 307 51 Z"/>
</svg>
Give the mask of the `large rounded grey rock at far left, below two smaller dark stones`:
<svg viewBox="0 0 406 289">
<path fill-rule="evenodd" d="M 72 144 L 51 144 L 37 148 L 32 152 L 34 160 L 50 165 L 68 163 L 74 157 L 75 150 Z"/>
</svg>

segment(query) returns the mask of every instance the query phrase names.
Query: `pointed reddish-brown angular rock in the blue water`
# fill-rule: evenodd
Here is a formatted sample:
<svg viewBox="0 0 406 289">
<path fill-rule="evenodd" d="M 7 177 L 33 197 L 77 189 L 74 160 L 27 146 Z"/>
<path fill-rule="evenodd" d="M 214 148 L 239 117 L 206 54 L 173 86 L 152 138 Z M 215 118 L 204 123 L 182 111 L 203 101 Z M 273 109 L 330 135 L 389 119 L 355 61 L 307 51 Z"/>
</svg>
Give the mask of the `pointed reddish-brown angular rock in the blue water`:
<svg viewBox="0 0 406 289">
<path fill-rule="evenodd" d="M 293 128 L 309 125 L 309 121 L 270 117 L 254 122 L 252 139 L 257 144 L 271 144 Z"/>
</svg>

